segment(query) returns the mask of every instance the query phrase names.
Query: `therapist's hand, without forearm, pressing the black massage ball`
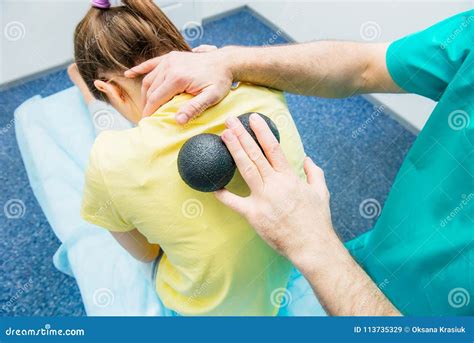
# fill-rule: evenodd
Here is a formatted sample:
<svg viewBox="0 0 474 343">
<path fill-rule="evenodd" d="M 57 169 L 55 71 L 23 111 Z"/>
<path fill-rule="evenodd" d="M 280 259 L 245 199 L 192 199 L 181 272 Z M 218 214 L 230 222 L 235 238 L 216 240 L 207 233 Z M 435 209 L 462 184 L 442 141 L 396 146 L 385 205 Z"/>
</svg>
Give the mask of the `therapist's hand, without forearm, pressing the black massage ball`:
<svg viewBox="0 0 474 343">
<path fill-rule="evenodd" d="M 243 198 L 228 190 L 216 197 L 247 218 L 257 233 L 290 260 L 337 236 L 332 229 L 329 192 L 323 171 L 310 158 L 301 180 L 289 166 L 278 141 L 265 121 L 252 114 L 250 126 L 265 155 L 236 118 L 229 118 L 222 139 L 234 157 L 251 195 Z M 268 159 L 268 160 L 267 160 Z M 295 261 L 294 261 L 295 262 Z"/>
</svg>

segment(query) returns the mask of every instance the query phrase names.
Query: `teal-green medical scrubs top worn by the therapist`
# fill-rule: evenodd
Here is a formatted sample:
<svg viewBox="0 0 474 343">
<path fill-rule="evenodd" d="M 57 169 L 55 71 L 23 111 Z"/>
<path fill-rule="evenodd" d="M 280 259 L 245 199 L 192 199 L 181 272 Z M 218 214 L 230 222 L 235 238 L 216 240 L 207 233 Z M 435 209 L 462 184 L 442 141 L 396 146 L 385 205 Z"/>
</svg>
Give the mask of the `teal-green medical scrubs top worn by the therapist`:
<svg viewBox="0 0 474 343">
<path fill-rule="evenodd" d="M 393 42 L 393 80 L 438 104 L 374 229 L 348 242 L 405 315 L 474 315 L 474 10 Z"/>
</svg>

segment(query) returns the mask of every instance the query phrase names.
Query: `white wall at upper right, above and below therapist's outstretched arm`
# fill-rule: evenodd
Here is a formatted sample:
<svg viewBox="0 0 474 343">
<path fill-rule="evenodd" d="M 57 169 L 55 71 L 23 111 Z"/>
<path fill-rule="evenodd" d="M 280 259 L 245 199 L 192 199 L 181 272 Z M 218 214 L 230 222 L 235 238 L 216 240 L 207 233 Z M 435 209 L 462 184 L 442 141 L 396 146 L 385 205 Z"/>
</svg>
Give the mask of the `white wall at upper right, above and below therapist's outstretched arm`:
<svg viewBox="0 0 474 343">
<path fill-rule="evenodd" d="M 473 8 L 472 0 L 253 1 L 250 7 L 297 42 L 321 39 L 384 42 L 419 31 Z M 413 132 L 421 130 L 435 102 L 412 94 L 371 94 Z"/>
</svg>

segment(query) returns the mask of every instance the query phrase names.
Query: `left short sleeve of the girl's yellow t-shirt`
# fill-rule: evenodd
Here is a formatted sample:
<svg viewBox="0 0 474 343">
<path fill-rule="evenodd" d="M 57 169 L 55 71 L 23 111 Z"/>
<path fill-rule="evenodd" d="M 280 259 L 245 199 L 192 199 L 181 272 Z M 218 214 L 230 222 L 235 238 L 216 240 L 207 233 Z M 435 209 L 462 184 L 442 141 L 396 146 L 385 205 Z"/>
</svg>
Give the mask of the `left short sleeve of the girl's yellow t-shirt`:
<svg viewBox="0 0 474 343">
<path fill-rule="evenodd" d="M 81 216 L 84 220 L 109 231 L 131 231 L 134 229 L 133 225 L 121 217 L 106 185 L 107 178 L 101 168 L 99 151 L 96 143 L 92 148 L 85 174 Z"/>
</svg>

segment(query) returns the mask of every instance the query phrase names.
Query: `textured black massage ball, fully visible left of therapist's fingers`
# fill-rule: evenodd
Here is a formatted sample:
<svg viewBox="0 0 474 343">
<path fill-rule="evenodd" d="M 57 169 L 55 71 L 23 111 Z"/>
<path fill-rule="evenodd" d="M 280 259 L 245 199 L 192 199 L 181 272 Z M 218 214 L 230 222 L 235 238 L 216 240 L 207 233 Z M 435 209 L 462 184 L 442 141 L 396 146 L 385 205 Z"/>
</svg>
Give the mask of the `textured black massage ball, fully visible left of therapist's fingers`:
<svg viewBox="0 0 474 343">
<path fill-rule="evenodd" d="M 178 171 L 183 181 L 201 192 L 224 188 L 235 173 L 235 163 L 220 136 L 203 133 L 190 138 L 179 151 Z"/>
</svg>

